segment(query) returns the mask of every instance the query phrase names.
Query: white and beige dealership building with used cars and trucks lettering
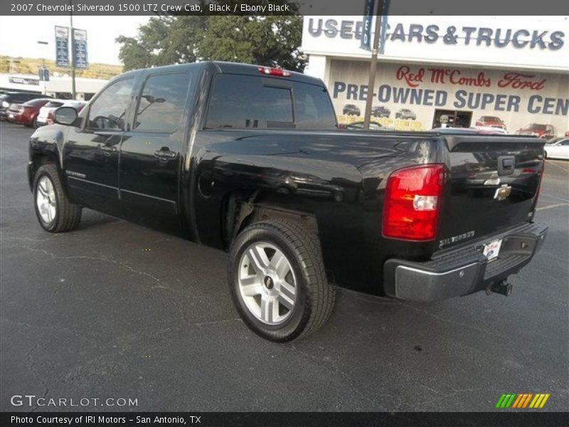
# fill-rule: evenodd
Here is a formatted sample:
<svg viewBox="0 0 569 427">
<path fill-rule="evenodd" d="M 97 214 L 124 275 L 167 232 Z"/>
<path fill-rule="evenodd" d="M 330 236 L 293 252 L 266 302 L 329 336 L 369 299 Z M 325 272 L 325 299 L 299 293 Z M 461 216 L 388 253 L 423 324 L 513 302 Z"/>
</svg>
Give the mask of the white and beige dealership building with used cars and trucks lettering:
<svg viewBox="0 0 569 427">
<path fill-rule="evenodd" d="M 568 16 L 388 16 L 384 25 L 373 120 L 569 131 Z M 339 122 L 363 120 L 371 52 L 360 47 L 362 26 L 361 16 L 304 18 L 305 73 L 324 80 Z"/>
</svg>

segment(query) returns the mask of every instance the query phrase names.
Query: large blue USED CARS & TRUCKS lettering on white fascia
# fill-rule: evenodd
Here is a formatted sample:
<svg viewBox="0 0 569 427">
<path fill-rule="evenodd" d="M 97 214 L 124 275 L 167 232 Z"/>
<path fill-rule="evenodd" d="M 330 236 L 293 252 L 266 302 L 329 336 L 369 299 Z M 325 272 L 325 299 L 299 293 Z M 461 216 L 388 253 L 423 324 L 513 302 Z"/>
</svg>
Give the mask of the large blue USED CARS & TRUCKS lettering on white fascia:
<svg viewBox="0 0 569 427">
<path fill-rule="evenodd" d="M 366 21 L 337 21 L 336 19 L 314 19 L 308 20 L 308 33 L 313 37 L 324 36 L 329 38 L 356 38 L 362 39 L 362 46 L 368 45 L 368 31 L 371 22 Z M 397 23 L 395 26 L 386 26 L 387 32 L 385 39 L 391 42 L 400 41 L 415 43 L 435 43 L 442 39 L 448 45 L 463 43 L 464 46 L 474 44 L 475 46 L 494 46 L 505 48 L 548 49 L 558 51 L 565 44 L 565 32 L 563 31 L 538 31 L 512 28 L 486 28 L 472 26 L 447 26 L 440 28 L 437 25 L 422 25 L 420 23 L 403 24 Z M 389 32 L 390 31 L 390 32 Z M 366 47 L 367 48 L 367 47 Z"/>
</svg>

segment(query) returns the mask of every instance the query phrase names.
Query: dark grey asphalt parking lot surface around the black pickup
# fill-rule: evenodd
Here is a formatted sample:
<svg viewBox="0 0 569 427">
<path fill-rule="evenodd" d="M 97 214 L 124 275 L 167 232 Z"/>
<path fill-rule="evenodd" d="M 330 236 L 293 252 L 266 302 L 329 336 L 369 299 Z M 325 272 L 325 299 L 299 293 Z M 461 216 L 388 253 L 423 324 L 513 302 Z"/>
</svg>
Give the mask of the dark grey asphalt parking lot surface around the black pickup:
<svg viewBox="0 0 569 427">
<path fill-rule="evenodd" d="M 137 411 L 569 407 L 569 162 L 550 161 L 541 253 L 514 293 L 410 304 L 339 290 L 317 334 L 272 344 L 233 309 L 225 253 L 85 210 L 52 235 L 26 182 L 32 130 L 0 123 L 0 410 L 14 394 L 137 399 Z M 78 410 L 78 408 L 68 408 Z"/>
</svg>

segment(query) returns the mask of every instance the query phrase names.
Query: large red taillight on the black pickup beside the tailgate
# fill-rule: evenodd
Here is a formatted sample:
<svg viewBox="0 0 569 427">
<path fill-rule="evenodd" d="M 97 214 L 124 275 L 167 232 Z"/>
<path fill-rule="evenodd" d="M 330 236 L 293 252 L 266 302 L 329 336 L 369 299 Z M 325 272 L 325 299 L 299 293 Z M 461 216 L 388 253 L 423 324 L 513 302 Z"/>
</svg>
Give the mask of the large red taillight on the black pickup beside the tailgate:
<svg viewBox="0 0 569 427">
<path fill-rule="evenodd" d="M 437 236 L 444 181 L 444 164 L 407 167 L 390 174 L 383 203 L 383 236 L 433 240 Z"/>
</svg>

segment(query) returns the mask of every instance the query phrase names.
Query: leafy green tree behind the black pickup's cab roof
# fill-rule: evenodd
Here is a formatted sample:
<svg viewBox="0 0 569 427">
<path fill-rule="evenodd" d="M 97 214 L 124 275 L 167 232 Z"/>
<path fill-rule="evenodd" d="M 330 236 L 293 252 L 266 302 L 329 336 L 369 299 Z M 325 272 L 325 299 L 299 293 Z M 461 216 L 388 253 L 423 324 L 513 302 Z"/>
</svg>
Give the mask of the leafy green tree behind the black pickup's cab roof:
<svg viewBox="0 0 569 427">
<path fill-rule="evenodd" d="M 227 60 L 302 71 L 301 40 L 302 17 L 297 15 L 156 16 L 137 37 L 119 36 L 117 43 L 124 70 Z"/>
</svg>

